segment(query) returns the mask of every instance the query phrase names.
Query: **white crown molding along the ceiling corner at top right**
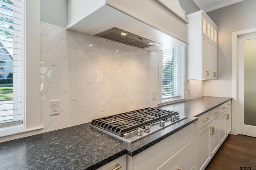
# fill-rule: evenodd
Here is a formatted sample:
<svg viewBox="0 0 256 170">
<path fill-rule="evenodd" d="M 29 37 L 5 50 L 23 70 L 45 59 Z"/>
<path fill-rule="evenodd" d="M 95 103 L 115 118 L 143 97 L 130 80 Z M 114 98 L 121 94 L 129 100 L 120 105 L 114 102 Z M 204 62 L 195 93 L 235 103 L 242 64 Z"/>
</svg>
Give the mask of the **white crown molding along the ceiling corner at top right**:
<svg viewBox="0 0 256 170">
<path fill-rule="evenodd" d="M 201 10 L 204 10 L 204 12 L 210 12 L 210 11 L 213 11 L 213 10 L 216 10 L 216 9 L 219 9 L 219 8 L 222 8 L 222 7 L 225 7 L 225 6 L 229 6 L 229 5 L 232 5 L 232 4 L 235 4 L 237 2 L 241 2 L 243 0 L 228 0 L 226 2 L 222 2 L 222 3 L 219 3 L 219 4 L 216 4 L 214 6 L 210 6 L 208 8 L 206 8 L 204 6 L 204 4 L 201 2 L 201 0 L 193 0 L 195 2 L 195 4 L 201 9 Z"/>
</svg>

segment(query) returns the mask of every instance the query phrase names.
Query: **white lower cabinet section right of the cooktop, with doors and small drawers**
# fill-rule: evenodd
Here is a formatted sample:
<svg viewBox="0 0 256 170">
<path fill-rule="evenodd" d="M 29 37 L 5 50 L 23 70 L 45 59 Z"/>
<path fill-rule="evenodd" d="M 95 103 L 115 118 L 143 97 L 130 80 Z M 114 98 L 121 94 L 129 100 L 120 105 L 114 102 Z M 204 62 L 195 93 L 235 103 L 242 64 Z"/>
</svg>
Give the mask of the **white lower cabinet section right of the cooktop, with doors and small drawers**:
<svg viewBox="0 0 256 170">
<path fill-rule="evenodd" d="M 231 131 L 232 111 L 228 103 L 230 101 L 201 115 L 198 117 L 199 121 L 195 122 L 196 169 L 198 170 L 206 168 Z"/>
</svg>

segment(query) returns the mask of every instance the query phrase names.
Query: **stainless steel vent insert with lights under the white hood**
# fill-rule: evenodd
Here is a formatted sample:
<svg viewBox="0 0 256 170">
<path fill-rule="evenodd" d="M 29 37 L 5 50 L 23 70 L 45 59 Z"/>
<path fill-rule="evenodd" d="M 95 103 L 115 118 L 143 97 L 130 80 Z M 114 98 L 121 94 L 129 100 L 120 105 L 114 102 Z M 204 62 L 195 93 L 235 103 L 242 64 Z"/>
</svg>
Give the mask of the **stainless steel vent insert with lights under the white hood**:
<svg viewBox="0 0 256 170">
<path fill-rule="evenodd" d="M 127 33 L 127 35 L 121 35 L 121 33 Z M 118 43 L 122 43 L 125 45 L 131 45 L 133 47 L 137 47 L 140 49 L 161 45 L 160 43 L 156 43 L 152 40 L 140 37 L 138 35 L 135 35 L 128 31 L 124 31 L 124 30 L 116 28 L 116 27 L 107 29 L 101 33 L 94 35 L 94 36 L 108 39 L 111 41 L 115 41 Z"/>
</svg>

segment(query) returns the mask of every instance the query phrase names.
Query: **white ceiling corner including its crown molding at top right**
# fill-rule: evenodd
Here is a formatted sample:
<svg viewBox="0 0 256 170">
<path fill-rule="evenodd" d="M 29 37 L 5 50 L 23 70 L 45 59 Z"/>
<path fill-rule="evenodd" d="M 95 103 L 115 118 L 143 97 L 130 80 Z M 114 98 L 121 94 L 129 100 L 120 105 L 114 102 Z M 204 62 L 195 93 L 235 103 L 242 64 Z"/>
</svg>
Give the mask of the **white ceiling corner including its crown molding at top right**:
<svg viewBox="0 0 256 170">
<path fill-rule="evenodd" d="M 235 4 L 243 0 L 193 0 L 193 1 L 201 10 L 204 10 L 204 12 L 209 12 L 212 10 L 216 10 L 218 8 L 222 8 L 224 6 Z"/>
</svg>

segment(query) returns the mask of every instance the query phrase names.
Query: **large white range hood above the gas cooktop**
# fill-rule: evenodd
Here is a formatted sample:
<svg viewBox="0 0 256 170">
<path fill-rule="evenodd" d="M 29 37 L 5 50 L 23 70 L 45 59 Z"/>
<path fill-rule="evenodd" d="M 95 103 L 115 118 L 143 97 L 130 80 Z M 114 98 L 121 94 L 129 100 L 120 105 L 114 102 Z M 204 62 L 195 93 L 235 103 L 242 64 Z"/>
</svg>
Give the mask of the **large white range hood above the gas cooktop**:
<svg viewBox="0 0 256 170">
<path fill-rule="evenodd" d="M 178 0 L 68 0 L 70 31 L 146 51 L 188 45 Z"/>
</svg>

